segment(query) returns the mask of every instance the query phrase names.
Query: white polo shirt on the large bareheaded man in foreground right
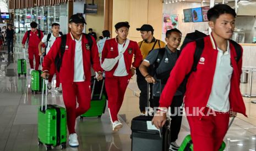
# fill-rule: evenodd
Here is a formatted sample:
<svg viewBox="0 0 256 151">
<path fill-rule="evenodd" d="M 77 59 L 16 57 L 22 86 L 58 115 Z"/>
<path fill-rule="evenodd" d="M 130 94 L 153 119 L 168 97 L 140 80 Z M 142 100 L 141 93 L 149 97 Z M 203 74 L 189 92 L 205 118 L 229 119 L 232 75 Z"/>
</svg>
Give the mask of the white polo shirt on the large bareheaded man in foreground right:
<svg viewBox="0 0 256 151">
<path fill-rule="evenodd" d="M 213 87 L 207 103 L 207 107 L 217 112 L 228 112 L 230 109 L 230 81 L 233 73 L 230 58 L 230 43 L 227 42 L 227 51 L 223 53 L 217 48 L 217 62 L 213 80 Z"/>
</svg>

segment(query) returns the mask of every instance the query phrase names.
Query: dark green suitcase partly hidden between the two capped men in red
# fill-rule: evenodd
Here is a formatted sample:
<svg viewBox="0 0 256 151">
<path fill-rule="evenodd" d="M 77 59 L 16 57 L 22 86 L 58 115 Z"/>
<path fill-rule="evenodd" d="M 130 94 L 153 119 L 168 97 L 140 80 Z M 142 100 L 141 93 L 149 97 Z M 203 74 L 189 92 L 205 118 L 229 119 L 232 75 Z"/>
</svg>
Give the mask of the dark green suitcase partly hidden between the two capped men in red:
<svg viewBox="0 0 256 151">
<path fill-rule="evenodd" d="M 90 104 L 90 109 L 80 115 L 80 118 L 83 119 L 84 117 L 98 117 L 100 118 L 101 115 L 105 112 L 106 108 L 106 96 L 103 94 L 104 90 L 104 84 L 105 84 L 105 79 L 102 80 L 101 84 L 101 90 L 100 94 L 95 94 L 95 86 L 96 83 L 99 85 L 101 82 L 96 82 L 96 79 L 94 79 L 93 85 L 92 85 L 92 92 L 91 92 L 91 104 Z"/>
</svg>

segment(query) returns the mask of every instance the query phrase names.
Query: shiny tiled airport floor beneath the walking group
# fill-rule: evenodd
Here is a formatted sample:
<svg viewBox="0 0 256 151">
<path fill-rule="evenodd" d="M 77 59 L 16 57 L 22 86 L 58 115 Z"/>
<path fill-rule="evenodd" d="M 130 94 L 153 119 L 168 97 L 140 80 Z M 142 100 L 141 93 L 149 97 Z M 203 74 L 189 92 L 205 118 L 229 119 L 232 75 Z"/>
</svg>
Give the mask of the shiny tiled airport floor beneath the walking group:
<svg viewBox="0 0 256 151">
<path fill-rule="evenodd" d="M 6 48 L 0 49 L 0 150 L 45 150 L 37 145 L 37 108 L 41 95 L 31 94 L 29 74 L 28 77 L 17 76 L 17 59 L 23 56 L 21 51 L 21 48 L 15 47 L 14 55 L 8 56 Z M 101 119 L 77 119 L 80 146 L 70 148 L 67 144 L 65 150 L 131 150 L 130 121 L 139 114 L 139 91 L 134 79 L 128 86 L 119 112 L 123 128 L 119 132 L 112 132 L 108 112 Z M 242 92 L 247 91 L 247 86 L 241 84 Z M 253 92 L 256 93 L 255 87 Z M 62 95 L 50 91 L 47 98 L 50 104 L 63 106 Z M 256 98 L 244 98 L 248 118 L 238 115 L 228 130 L 226 151 L 256 150 L 256 104 L 250 103 L 251 100 Z M 188 134 L 187 119 L 183 117 L 177 143 L 181 144 Z"/>
</svg>

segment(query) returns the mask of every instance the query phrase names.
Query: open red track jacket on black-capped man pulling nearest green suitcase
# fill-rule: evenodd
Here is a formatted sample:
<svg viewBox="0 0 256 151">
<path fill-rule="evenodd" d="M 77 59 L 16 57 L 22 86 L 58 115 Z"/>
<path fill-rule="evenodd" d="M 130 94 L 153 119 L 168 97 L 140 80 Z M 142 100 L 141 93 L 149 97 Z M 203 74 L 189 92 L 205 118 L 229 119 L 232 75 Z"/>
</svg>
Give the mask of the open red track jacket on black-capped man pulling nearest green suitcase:
<svg viewBox="0 0 256 151">
<path fill-rule="evenodd" d="M 84 75 L 85 80 L 91 80 L 91 62 L 92 68 L 95 71 L 103 71 L 100 67 L 100 58 L 97 49 L 95 39 L 91 36 L 92 47 L 91 50 L 86 49 L 88 40 L 85 35 L 82 37 L 82 49 L 83 49 L 83 63 L 84 63 Z M 61 37 L 58 37 L 53 43 L 49 53 L 43 58 L 43 71 L 50 71 L 51 63 L 55 62 L 57 55 L 61 55 Z M 75 40 L 71 36 L 71 33 L 67 34 L 66 50 L 62 58 L 62 66 L 59 71 L 59 79 L 61 83 L 73 83 L 74 81 L 74 60 L 75 59 Z"/>
</svg>

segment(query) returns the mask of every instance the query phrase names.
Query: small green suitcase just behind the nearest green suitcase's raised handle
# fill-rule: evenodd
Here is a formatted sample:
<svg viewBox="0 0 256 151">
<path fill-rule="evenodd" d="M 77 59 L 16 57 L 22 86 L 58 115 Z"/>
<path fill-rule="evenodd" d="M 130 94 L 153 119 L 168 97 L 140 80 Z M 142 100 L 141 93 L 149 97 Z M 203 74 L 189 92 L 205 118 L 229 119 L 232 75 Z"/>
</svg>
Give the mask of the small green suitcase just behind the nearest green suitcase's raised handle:
<svg viewBox="0 0 256 151">
<path fill-rule="evenodd" d="M 43 78 L 41 78 L 42 71 L 41 70 L 33 70 L 31 72 L 31 84 L 30 88 L 32 92 L 41 92 L 42 91 L 42 84 Z M 46 89 L 46 85 L 44 86 L 43 90 Z"/>
</svg>

